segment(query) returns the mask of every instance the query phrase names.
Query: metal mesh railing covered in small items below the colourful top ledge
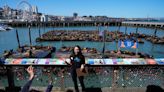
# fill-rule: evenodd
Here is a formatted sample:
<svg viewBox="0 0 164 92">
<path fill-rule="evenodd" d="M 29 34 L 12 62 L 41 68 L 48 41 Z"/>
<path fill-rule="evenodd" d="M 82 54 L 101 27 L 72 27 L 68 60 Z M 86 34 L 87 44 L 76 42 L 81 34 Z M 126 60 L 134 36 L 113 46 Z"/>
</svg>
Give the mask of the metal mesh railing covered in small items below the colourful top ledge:
<svg viewBox="0 0 164 92">
<path fill-rule="evenodd" d="M 7 68 L 0 67 L 0 86 L 8 86 Z M 22 86 L 28 81 L 27 66 L 10 66 L 14 74 L 16 86 Z M 47 86 L 49 77 L 55 87 L 73 87 L 68 66 L 34 66 L 35 79 L 32 86 Z M 164 66 L 88 66 L 88 74 L 84 78 L 86 87 L 147 87 L 148 85 L 164 86 Z M 80 86 L 80 84 L 79 84 Z"/>
</svg>

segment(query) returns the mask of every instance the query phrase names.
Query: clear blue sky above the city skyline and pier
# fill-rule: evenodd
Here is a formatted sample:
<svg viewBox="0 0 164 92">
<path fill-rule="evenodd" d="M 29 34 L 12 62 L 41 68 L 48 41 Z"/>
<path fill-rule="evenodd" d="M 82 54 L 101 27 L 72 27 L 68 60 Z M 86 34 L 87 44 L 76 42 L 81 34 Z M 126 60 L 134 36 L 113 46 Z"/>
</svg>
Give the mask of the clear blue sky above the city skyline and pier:
<svg viewBox="0 0 164 92">
<path fill-rule="evenodd" d="M 23 0 L 0 0 L 12 8 Z M 164 18 L 164 0 L 24 0 L 44 14 L 73 16 L 108 16 L 123 18 Z"/>
</svg>

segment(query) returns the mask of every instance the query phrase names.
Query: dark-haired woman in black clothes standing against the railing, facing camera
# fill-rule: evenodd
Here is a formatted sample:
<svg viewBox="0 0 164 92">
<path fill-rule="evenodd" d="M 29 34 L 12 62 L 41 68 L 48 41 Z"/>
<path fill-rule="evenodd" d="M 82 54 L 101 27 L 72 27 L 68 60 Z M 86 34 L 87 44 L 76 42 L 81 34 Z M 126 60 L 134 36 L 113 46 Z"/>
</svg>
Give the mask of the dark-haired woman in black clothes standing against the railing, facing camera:
<svg viewBox="0 0 164 92">
<path fill-rule="evenodd" d="M 71 76 L 74 83 L 75 91 L 79 92 L 78 85 L 77 85 L 77 69 L 80 69 L 80 71 L 84 71 L 84 65 L 85 65 L 85 57 L 83 56 L 81 52 L 80 46 L 75 46 L 72 54 L 70 55 L 71 62 L 69 63 L 71 65 Z M 66 62 L 68 64 L 68 62 Z M 85 92 L 85 86 L 84 86 L 84 76 L 78 76 L 78 79 L 80 81 L 82 91 Z"/>
</svg>

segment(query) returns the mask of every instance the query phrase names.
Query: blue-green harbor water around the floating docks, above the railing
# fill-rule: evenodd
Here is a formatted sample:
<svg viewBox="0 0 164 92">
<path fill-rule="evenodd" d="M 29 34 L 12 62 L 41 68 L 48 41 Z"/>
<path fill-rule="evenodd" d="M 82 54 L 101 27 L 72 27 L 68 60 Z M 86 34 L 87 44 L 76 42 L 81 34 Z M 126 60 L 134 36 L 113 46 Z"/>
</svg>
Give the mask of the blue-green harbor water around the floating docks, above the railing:
<svg viewBox="0 0 164 92">
<path fill-rule="evenodd" d="M 18 47 L 17 43 L 17 38 L 16 38 L 16 32 L 14 28 L 11 31 L 6 31 L 6 32 L 0 32 L 0 53 L 3 53 L 4 50 L 10 50 L 10 49 L 16 49 Z M 18 34 L 19 34 L 19 39 L 20 39 L 20 44 L 22 45 L 29 45 L 29 36 L 28 36 L 28 28 L 26 27 L 21 27 L 17 28 L 18 29 Z M 97 27 L 46 27 L 46 28 L 41 28 L 41 34 L 51 31 L 51 30 L 96 30 Z M 106 27 L 101 27 L 101 30 L 106 29 Z M 115 31 L 117 30 L 118 27 L 108 27 L 109 31 Z M 97 48 L 99 51 L 102 51 L 103 43 L 102 42 L 88 42 L 88 41 L 83 41 L 83 42 L 63 42 L 63 41 L 54 41 L 54 42 L 35 42 L 35 39 L 39 37 L 39 28 L 37 27 L 32 27 L 31 28 L 31 38 L 32 38 L 32 45 L 51 45 L 55 46 L 57 49 L 59 49 L 62 45 L 65 46 L 74 46 L 74 45 L 80 45 L 81 47 L 94 47 Z M 128 27 L 127 28 L 127 33 L 129 34 L 130 32 L 135 32 L 136 28 L 134 27 Z M 147 28 L 139 28 L 138 32 L 139 33 L 144 33 L 148 35 L 153 35 L 155 29 L 147 29 Z M 120 28 L 121 32 L 125 33 L 125 27 Z M 158 30 L 157 31 L 157 36 L 159 37 L 164 37 L 164 30 Z M 116 43 L 115 42 L 107 42 L 106 43 L 106 50 L 116 50 Z M 133 49 L 122 49 L 122 50 L 130 50 L 134 51 Z M 148 53 L 150 55 L 153 55 L 156 58 L 163 58 L 164 57 L 164 45 L 162 44 L 152 44 L 149 41 L 145 41 L 144 44 L 139 44 L 138 48 L 139 52 L 144 52 Z"/>
</svg>

